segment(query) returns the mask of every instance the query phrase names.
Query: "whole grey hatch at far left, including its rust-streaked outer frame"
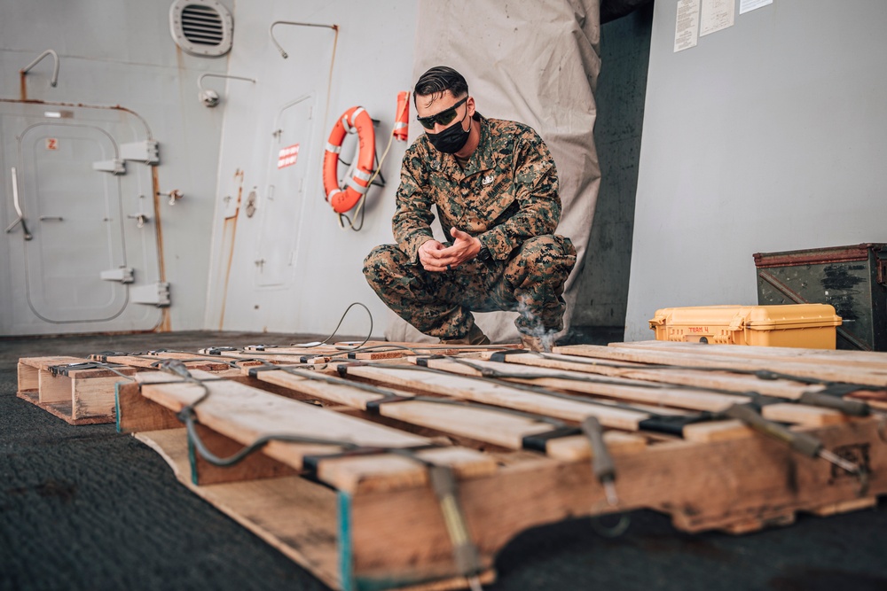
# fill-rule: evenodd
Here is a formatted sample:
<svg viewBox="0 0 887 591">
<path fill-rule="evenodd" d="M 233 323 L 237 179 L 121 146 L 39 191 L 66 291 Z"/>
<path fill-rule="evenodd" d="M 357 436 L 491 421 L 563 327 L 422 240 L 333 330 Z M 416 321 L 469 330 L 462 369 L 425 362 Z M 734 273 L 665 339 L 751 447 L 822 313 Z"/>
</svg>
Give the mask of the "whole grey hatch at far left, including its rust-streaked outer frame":
<svg viewBox="0 0 887 591">
<path fill-rule="evenodd" d="M 51 121 L 50 113 L 64 115 Z M 143 126 L 124 111 L 0 104 L 4 187 L 14 193 L 4 207 L 2 333 L 150 330 L 161 322 L 156 305 L 135 303 L 158 284 L 151 168 L 121 153 Z M 12 225 L 19 212 L 29 239 L 26 224 Z"/>
</svg>

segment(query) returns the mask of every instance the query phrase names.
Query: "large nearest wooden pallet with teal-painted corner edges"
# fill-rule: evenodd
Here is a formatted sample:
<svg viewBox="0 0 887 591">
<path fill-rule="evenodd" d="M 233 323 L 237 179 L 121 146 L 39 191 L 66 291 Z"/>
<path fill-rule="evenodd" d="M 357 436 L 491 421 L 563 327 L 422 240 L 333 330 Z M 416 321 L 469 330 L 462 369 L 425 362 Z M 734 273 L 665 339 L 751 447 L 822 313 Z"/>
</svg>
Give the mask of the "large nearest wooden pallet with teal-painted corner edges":
<svg viewBox="0 0 887 591">
<path fill-rule="evenodd" d="M 195 494 L 338 589 L 466 587 L 424 463 L 456 474 L 484 580 L 517 533 L 569 517 L 647 508 L 668 513 L 683 531 L 746 533 L 790 524 L 798 511 L 868 507 L 887 494 L 884 417 L 798 402 L 827 390 L 809 383 L 815 376 L 860 388 L 839 398 L 887 400 L 871 384 L 887 370 L 887 354 L 677 345 L 313 365 L 301 351 L 276 351 L 275 362 L 288 364 L 245 362 L 241 377 L 224 380 L 197 369 L 192 379 L 139 372 L 118 385 L 118 429 L 157 450 Z M 640 361 L 648 354 L 655 365 Z M 806 357 L 815 361 L 800 361 Z M 748 373 L 761 369 L 781 375 Z M 763 416 L 820 439 L 866 478 L 737 420 L 690 422 L 750 400 L 754 386 L 783 399 L 763 406 Z M 201 399 L 192 408 L 194 433 L 216 455 L 281 432 L 359 448 L 271 440 L 242 463 L 217 467 L 182 428 L 183 409 Z M 593 476 L 589 440 L 561 429 L 588 416 L 606 428 L 616 506 Z M 670 419 L 679 427 L 663 428 Z M 413 455 L 392 451 L 402 447 Z"/>
</svg>

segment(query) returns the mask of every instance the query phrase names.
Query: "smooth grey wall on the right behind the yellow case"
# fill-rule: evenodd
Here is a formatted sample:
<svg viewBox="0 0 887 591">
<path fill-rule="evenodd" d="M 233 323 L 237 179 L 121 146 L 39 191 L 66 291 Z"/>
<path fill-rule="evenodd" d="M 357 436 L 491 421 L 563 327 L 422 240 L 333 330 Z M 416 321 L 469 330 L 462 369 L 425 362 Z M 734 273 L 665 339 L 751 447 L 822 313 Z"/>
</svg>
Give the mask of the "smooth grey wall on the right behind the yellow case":
<svg viewBox="0 0 887 591">
<path fill-rule="evenodd" d="M 756 304 L 753 253 L 887 241 L 887 4 L 774 0 L 678 53 L 675 17 L 655 3 L 626 340 Z"/>
</svg>

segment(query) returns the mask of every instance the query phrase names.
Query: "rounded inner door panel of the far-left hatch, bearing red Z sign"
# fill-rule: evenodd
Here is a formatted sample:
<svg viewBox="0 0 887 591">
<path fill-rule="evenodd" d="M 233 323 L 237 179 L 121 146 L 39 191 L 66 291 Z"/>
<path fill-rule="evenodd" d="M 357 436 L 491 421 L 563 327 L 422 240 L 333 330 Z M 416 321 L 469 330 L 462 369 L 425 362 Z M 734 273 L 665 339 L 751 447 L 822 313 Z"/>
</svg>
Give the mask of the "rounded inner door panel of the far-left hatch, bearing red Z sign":
<svg viewBox="0 0 887 591">
<path fill-rule="evenodd" d="M 114 139 L 91 126 L 36 123 L 19 153 L 20 206 L 33 236 L 24 245 L 28 307 L 47 323 L 113 320 L 127 290 L 101 274 L 126 267 L 120 183 L 92 165 L 119 159 Z"/>
</svg>

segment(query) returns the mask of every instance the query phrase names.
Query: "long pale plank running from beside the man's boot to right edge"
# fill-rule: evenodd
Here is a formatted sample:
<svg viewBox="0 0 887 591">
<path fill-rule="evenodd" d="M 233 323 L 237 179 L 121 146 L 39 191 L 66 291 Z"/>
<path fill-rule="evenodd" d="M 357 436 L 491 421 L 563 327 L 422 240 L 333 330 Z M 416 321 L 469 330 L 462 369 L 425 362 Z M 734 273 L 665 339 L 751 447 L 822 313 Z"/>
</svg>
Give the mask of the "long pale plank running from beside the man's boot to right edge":
<svg viewBox="0 0 887 591">
<path fill-rule="evenodd" d="M 733 359 L 721 355 L 687 354 L 652 349 L 621 349 L 611 346 L 569 345 L 555 346 L 554 353 L 578 355 L 627 362 L 679 365 L 694 368 L 717 368 L 745 371 L 779 371 L 797 377 L 811 377 L 829 382 L 874 385 L 887 383 L 887 368 L 883 370 L 849 370 L 829 366 L 797 362 L 767 362 L 750 359 Z"/>
</svg>

